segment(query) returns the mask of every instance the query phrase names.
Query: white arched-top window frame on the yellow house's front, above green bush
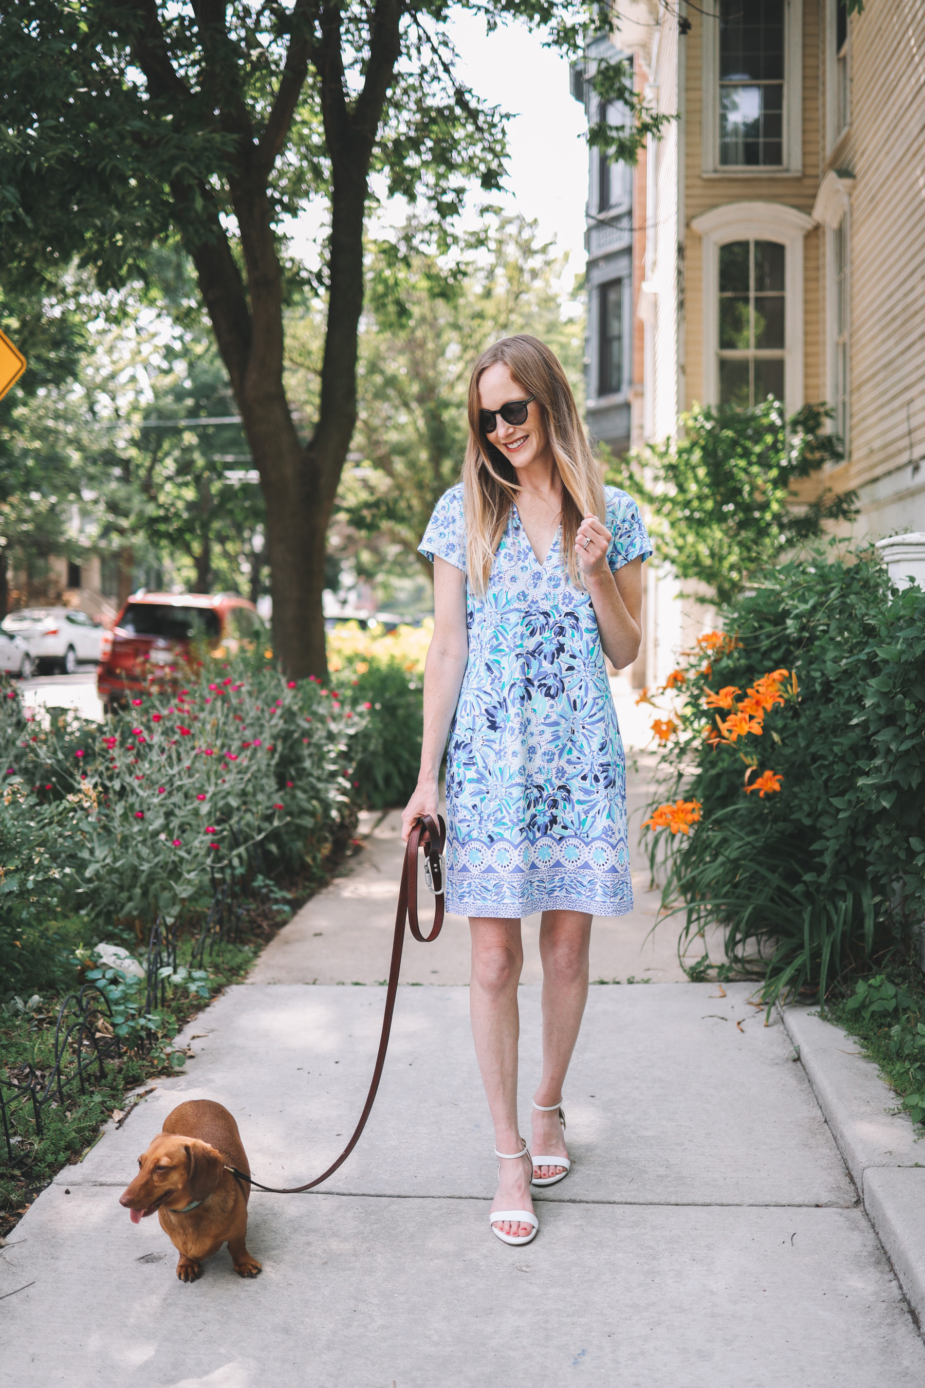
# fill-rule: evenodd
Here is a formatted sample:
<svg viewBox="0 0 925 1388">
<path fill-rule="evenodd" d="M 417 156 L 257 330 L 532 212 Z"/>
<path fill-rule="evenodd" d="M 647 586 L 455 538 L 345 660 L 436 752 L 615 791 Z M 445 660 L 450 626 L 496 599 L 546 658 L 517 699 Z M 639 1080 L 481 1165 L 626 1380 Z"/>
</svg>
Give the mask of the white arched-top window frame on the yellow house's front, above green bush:
<svg viewBox="0 0 925 1388">
<path fill-rule="evenodd" d="M 789 414 L 803 404 L 803 237 L 811 217 L 781 203 L 727 203 L 695 217 L 703 251 L 703 401 L 720 403 L 720 246 L 779 242 L 784 258 L 784 396 Z"/>
</svg>

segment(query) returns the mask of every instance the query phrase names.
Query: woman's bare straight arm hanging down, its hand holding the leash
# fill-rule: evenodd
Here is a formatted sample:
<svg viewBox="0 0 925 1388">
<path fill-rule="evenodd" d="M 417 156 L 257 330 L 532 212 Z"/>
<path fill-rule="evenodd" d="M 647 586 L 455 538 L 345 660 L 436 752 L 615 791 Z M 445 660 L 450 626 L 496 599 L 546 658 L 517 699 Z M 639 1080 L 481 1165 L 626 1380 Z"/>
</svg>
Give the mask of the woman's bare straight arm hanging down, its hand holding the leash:
<svg viewBox="0 0 925 1388">
<path fill-rule="evenodd" d="M 459 702 L 459 690 L 469 661 L 466 629 L 466 575 L 447 559 L 434 559 L 434 636 L 424 665 L 424 734 L 420 747 L 420 775 L 415 794 L 402 813 L 402 838 L 422 815 L 437 819 L 440 763 L 447 736 Z"/>
</svg>

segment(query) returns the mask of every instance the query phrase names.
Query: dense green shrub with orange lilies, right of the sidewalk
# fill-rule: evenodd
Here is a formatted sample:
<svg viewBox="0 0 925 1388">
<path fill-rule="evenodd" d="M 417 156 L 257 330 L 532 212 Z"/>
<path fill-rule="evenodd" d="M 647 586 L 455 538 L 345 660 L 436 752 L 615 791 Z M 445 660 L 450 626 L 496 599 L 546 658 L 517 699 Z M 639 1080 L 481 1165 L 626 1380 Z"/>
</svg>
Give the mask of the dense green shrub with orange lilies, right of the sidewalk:
<svg viewBox="0 0 925 1388">
<path fill-rule="evenodd" d="M 698 809 L 673 824 L 663 808 L 653 827 L 675 831 L 653 863 L 664 855 L 685 941 L 720 924 L 729 965 L 760 965 L 768 999 L 824 1001 L 925 917 L 925 593 L 897 595 L 871 552 L 835 547 L 766 572 L 724 626 L 663 691 L 667 788 Z M 759 727 L 724 736 L 749 687 L 779 670 Z M 724 687 L 732 706 L 709 706 Z"/>
</svg>

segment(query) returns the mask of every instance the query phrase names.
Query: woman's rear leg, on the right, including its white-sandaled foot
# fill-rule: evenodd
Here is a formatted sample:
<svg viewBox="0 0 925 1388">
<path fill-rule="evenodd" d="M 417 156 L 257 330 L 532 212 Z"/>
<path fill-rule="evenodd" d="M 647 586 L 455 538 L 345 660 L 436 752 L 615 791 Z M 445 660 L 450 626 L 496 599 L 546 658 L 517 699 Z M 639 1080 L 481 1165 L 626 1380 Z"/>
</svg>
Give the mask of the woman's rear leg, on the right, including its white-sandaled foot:
<svg viewBox="0 0 925 1388">
<path fill-rule="evenodd" d="M 544 1106 L 557 1103 L 588 1001 L 591 916 L 581 911 L 544 911 L 539 926 L 542 960 L 542 1080 L 534 1095 Z M 533 1151 L 567 1156 L 557 1112 L 533 1110 Z M 526 1165 L 526 1163 L 524 1163 Z M 564 1167 L 534 1167 L 534 1176 L 557 1176 Z"/>
</svg>

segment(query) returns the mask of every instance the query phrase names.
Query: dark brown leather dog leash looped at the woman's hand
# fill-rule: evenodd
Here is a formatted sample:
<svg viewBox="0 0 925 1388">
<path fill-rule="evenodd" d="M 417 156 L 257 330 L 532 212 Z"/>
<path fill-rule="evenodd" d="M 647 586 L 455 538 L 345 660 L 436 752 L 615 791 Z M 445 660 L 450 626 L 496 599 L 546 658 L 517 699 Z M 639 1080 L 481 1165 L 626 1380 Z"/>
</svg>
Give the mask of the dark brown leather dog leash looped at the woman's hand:
<svg viewBox="0 0 925 1388">
<path fill-rule="evenodd" d="M 445 887 L 447 887 L 447 863 L 444 861 L 444 844 L 447 841 L 447 826 L 444 824 L 444 816 L 437 816 L 440 827 L 434 823 L 430 815 L 424 815 L 422 819 L 416 820 L 410 836 L 408 838 L 408 848 L 405 849 L 405 862 L 402 866 L 401 887 L 398 888 L 398 911 L 395 912 L 395 936 L 392 938 L 392 962 L 388 969 L 388 987 L 386 990 L 386 1013 L 383 1016 L 383 1031 L 379 1038 L 379 1055 L 376 1056 L 376 1069 L 373 1070 L 373 1080 L 369 1085 L 369 1094 L 366 1095 L 366 1103 L 363 1105 L 363 1112 L 359 1116 L 359 1123 L 354 1128 L 354 1135 L 349 1142 L 326 1171 L 316 1176 L 313 1181 L 306 1181 L 305 1185 L 261 1185 L 255 1181 L 252 1176 L 245 1176 L 244 1171 L 239 1171 L 236 1166 L 226 1166 L 225 1170 L 230 1171 L 239 1181 L 248 1181 L 252 1188 L 258 1191 L 268 1191 L 270 1195 L 300 1195 L 302 1191 L 311 1191 L 315 1185 L 320 1185 L 326 1181 L 329 1176 L 333 1176 L 338 1166 L 341 1166 L 349 1153 L 354 1151 L 359 1142 L 361 1134 L 366 1127 L 366 1119 L 373 1110 L 373 1103 L 376 1102 L 376 1091 L 379 1090 L 379 1081 L 383 1077 L 383 1069 L 386 1065 L 386 1052 L 388 1051 L 388 1034 L 392 1026 L 392 1012 L 395 1010 L 395 995 L 398 992 L 398 973 L 401 970 L 401 955 L 402 947 L 405 944 L 405 919 L 410 926 L 410 933 L 415 940 L 427 945 L 441 931 L 444 923 L 444 905 L 445 905 Z M 429 936 L 422 936 L 420 927 L 417 924 L 417 851 L 424 849 L 424 881 L 427 890 L 434 898 L 434 924 Z"/>
</svg>

